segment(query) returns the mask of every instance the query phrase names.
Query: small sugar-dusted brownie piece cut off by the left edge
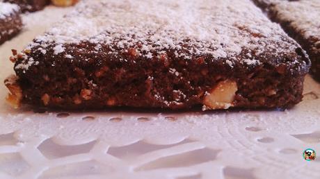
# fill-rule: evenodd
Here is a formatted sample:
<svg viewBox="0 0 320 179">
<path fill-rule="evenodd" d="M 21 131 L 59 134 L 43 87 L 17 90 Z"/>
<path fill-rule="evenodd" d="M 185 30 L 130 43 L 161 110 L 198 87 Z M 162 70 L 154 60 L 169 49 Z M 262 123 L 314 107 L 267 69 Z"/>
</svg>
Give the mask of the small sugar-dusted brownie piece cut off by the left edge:
<svg viewBox="0 0 320 179">
<path fill-rule="evenodd" d="M 22 29 L 19 6 L 0 2 L 0 44 L 10 40 Z"/>
</svg>

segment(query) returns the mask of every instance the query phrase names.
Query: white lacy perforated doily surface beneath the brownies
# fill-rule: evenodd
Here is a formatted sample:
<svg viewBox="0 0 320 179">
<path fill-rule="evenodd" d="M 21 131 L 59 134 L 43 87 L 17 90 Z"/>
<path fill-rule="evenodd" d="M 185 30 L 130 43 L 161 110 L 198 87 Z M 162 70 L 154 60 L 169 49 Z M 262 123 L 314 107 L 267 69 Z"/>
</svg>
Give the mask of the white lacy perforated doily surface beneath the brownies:
<svg viewBox="0 0 320 179">
<path fill-rule="evenodd" d="M 22 49 L 68 9 L 24 17 L 0 46 L 0 81 Z M 38 24 L 30 19 L 38 20 Z M 320 85 L 307 76 L 291 110 L 251 112 L 46 112 L 12 110 L 0 85 L 0 178 L 320 178 Z"/>
</svg>

